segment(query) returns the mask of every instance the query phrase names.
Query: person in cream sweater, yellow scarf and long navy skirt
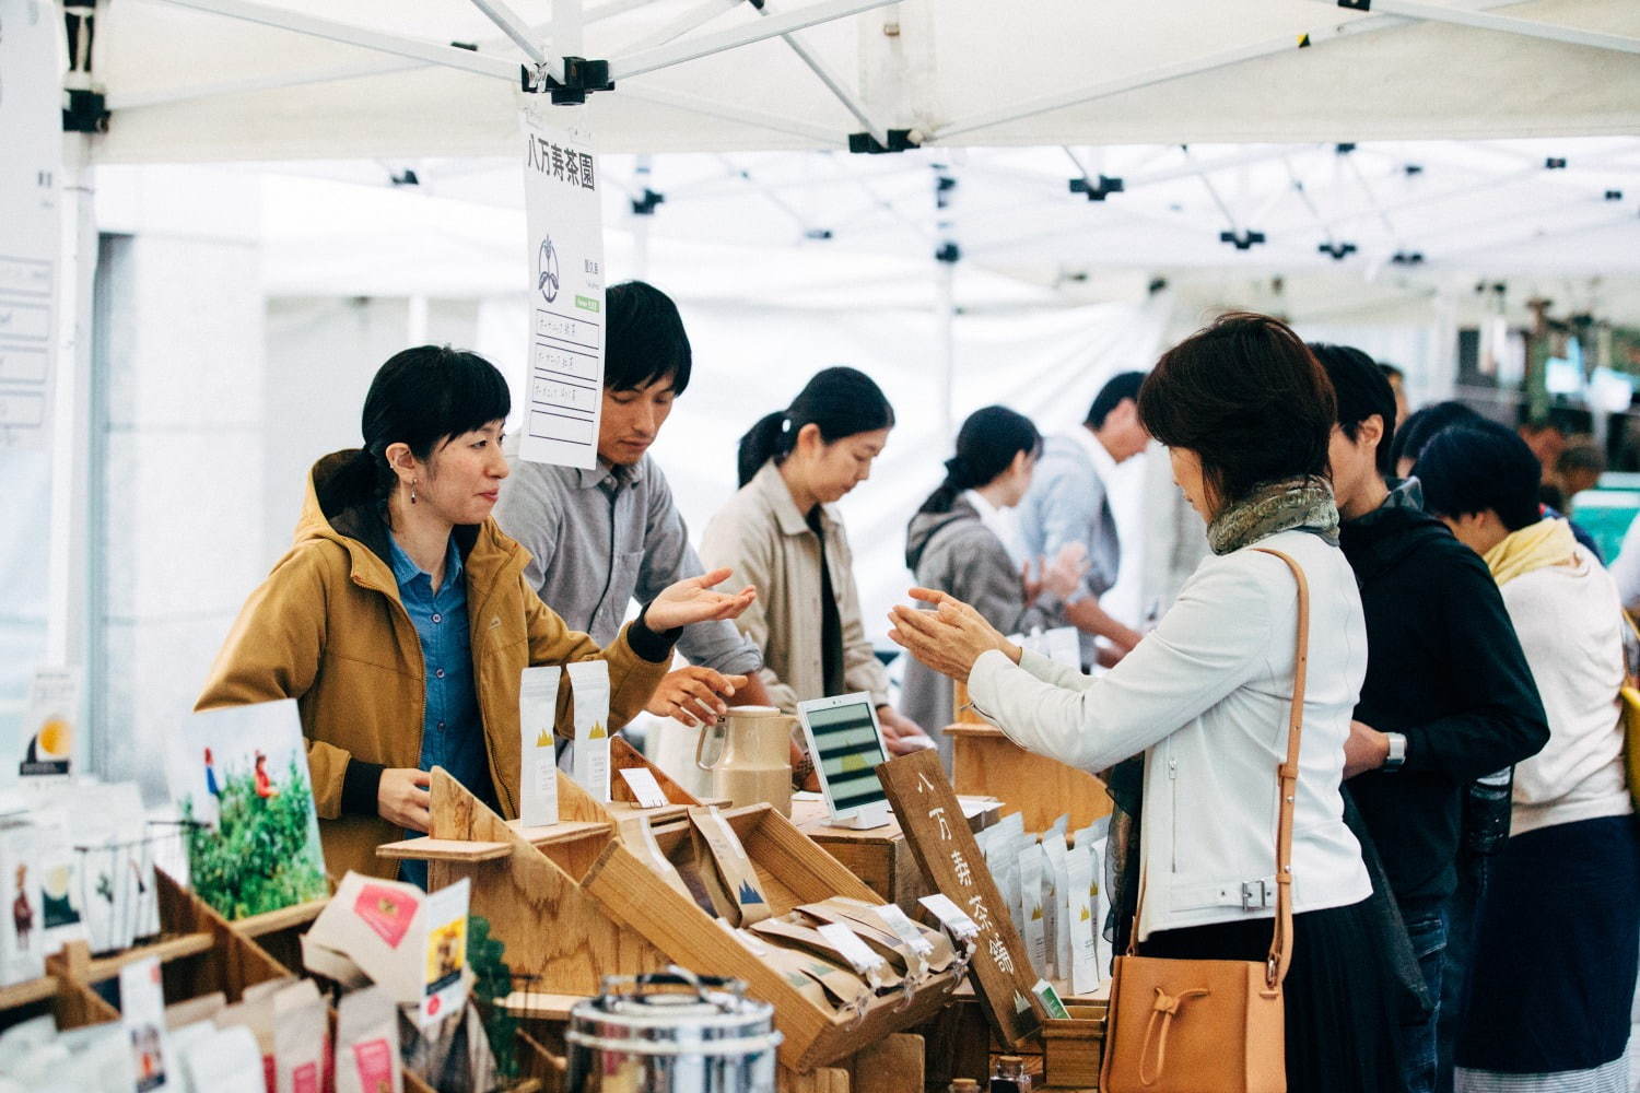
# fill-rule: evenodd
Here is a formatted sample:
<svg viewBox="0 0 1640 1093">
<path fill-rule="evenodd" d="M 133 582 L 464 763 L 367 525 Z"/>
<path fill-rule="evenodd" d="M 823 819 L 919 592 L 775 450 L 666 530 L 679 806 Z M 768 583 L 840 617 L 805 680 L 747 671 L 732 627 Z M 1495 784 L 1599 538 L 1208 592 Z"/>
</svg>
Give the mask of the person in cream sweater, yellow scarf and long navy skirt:
<svg viewBox="0 0 1640 1093">
<path fill-rule="evenodd" d="M 1515 765 L 1456 1088 L 1627 1093 L 1640 839 L 1622 760 L 1617 587 L 1565 519 L 1542 518 L 1537 459 L 1509 429 L 1443 431 L 1414 474 L 1427 510 L 1492 570 L 1550 726 L 1543 751 Z"/>
</svg>

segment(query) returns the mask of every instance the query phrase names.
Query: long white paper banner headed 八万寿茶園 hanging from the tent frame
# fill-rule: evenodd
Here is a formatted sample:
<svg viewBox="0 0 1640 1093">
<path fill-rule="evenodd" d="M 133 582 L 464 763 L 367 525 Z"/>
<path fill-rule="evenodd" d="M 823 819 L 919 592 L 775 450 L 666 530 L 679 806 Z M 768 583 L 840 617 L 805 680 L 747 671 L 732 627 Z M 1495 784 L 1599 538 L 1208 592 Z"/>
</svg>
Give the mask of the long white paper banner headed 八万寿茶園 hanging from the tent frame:
<svg viewBox="0 0 1640 1093">
<path fill-rule="evenodd" d="M 594 467 L 604 406 L 604 221 L 592 144 L 520 111 L 530 233 L 530 354 L 518 454 Z"/>
</svg>

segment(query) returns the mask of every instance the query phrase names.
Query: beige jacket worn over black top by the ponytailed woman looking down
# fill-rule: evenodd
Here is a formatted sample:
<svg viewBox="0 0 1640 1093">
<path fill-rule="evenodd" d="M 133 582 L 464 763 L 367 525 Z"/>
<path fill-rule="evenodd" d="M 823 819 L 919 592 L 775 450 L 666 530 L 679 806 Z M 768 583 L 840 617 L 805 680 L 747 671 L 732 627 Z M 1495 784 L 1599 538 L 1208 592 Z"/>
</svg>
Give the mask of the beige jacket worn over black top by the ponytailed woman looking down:
<svg viewBox="0 0 1640 1093">
<path fill-rule="evenodd" d="M 843 683 L 850 692 L 871 692 L 876 705 L 886 705 L 889 675 L 859 623 L 854 556 L 835 506 L 820 506 L 820 528 L 843 621 Z M 707 569 L 733 569 L 730 583 L 736 587 L 758 588 L 756 603 L 741 613 L 736 626 L 763 651 L 758 677 L 769 700 L 794 713 L 799 701 L 827 698 L 820 664 L 820 539 L 797 511 L 774 460 L 764 464 L 707 524 L 700 560 Z"/>
</svg>

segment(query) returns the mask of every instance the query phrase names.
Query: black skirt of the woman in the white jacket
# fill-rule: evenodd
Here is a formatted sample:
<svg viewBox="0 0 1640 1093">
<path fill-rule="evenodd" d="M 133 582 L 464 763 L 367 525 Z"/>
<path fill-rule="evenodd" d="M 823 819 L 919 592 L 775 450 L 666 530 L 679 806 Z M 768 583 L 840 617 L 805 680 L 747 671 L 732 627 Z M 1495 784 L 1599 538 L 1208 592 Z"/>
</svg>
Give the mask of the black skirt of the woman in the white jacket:
<svg viewBox="0 0 1640 1093">
<path fill-rule="evenodd" d="M 1146 957 L 1263 960 L 1271 919 L 1168 929 L 1140 946 Z M 1292 965 L 1282 983 L 1287 1093 L 1394 1093 L 1394 983 L 1373 950 L 1368 901 L 1292 916 Z"/>
</svg>

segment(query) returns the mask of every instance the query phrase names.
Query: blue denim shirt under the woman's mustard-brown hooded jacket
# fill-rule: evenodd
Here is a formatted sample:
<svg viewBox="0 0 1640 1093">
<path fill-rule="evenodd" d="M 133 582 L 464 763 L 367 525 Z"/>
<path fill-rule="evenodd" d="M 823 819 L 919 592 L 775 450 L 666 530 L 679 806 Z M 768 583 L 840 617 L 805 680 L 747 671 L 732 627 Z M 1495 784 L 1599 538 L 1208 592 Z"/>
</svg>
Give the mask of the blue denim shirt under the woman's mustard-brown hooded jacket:
<svg viewBox="0 0 1640 1093">
<path fill-rule="evenodd" d="M 433 577 L 410 560 L 399 541 L 392 546 L 394 580 L 410 615 L 426 669 L 426 708 L 421 714 L 421 770 L 443 767 L 479 800 L 494 803 L 489 751 L 472 682 L 467 582 L 456 539 L 444 559 L 444 583 L 433 592 Z M 412 832 L 415 834 L 415 832 Z M 405 862 L 405 877 L 426 887 L 426 865 Z"/>
</svg>

